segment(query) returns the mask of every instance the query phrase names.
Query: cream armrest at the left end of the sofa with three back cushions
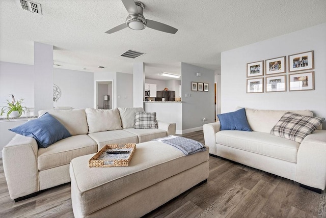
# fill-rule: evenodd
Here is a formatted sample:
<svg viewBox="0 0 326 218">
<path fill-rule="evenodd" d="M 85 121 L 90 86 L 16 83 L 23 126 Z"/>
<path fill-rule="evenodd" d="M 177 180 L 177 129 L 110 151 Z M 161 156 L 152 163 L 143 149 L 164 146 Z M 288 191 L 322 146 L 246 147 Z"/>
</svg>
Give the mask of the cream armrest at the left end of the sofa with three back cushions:
<svg viewBox="0 0 326 218">
<path fill-rule="evenodd" d="M 37 152 L 36 140 L 19 134 L 3 148 L 4 172 L 11 199 L 39 191 Z"/>
</svg>

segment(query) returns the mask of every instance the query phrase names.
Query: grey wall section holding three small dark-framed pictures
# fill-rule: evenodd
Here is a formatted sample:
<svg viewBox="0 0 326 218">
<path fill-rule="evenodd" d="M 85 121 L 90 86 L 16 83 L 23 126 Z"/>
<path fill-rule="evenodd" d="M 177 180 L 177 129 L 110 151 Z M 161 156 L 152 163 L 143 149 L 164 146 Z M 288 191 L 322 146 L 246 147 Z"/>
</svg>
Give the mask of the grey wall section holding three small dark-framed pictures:
<svg viewBox="0 0 326 218">
<path fill-rule="evenodd" d="M 196 76 L 196 73 L 201 76 Z M 208 92 L 192 91 L 192 81 L 208 83 Z M 214 71 L 181 63 L 182 132 L 203 129 L 203 124 L 214 122 Z M 191 97 L 185 98 L 186 94 Z M 206 118 L 203 122 L 202 119 Z"/>
</svg>

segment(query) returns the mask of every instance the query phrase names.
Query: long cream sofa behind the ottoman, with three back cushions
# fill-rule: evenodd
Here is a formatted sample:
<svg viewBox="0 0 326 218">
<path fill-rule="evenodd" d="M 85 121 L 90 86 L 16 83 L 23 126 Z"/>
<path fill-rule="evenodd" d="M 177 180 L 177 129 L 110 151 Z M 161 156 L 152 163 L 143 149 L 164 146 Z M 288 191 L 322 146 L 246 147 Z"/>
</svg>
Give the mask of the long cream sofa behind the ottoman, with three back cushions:
<svg viewBox="0 0 326 218">
<path fill-rule="evenodd" d="M 70 182 L 69 163 L 79 156 L 93 154 L 106 144 L 142 143 L 175 134 L 175 124 L 157 121 L 158 128 L 135 129 L 138 108 L 113 110 L 48 110 L 72 135 L 47 148 L 32 137 L 16 134 L 3 149 L 4 172 L 10 198 L 32 197 L 40 190 Z"/>
</svg>

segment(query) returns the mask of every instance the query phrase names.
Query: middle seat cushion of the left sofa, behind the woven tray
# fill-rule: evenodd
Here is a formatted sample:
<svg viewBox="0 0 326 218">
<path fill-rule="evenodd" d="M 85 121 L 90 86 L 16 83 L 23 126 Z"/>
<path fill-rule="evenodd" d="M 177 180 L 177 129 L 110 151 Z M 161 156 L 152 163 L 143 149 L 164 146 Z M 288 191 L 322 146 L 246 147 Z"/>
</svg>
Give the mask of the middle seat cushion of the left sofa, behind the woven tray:
<svg viewBox="0 0 326 218">
<path fill-rule="evenodd" d="M 98 145 L 98 150 L 107 144 L 138 143 L 138 137 L 125 130 L 111 130 L 88 134 Z"/>
</svg>

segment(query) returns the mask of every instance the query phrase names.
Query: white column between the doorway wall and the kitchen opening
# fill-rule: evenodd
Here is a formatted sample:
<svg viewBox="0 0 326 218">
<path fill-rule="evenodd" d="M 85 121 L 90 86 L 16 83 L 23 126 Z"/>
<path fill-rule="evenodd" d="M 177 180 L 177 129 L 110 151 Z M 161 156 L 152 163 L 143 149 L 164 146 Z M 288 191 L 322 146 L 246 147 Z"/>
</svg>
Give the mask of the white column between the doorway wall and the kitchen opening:
<svg viewBox="0 0 326 218">
<path fill-rule="evenodd" d="M 133 64 L 133 107 L 144 107 L 145 100 L 145 65 Z"/>
</svg>

